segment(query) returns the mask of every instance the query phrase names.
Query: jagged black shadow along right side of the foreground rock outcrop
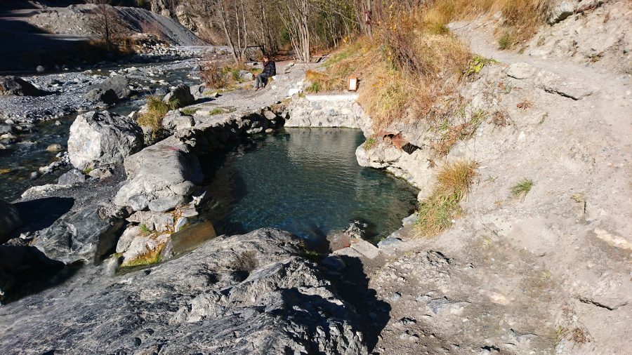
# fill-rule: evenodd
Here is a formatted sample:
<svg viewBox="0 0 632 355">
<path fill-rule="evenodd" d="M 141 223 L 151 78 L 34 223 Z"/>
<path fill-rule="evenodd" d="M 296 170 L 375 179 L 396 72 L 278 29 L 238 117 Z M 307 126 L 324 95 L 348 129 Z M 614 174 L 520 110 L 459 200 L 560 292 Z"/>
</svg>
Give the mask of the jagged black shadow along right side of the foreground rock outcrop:
<svg viewBox="0 0 632 355">
<path fill-rule="evenodd" d="M 359 258 L 345 255 L 341 255 L 340 258 L 345 264 L 344 272 L 328 272 L 330 281 L 336 286 L 338 295 L 355 307 L 360 330 L 364 334 L 364 342 L 370 353 L 390 319 L 390 304 L 378 300 L 376 291 L 369 288 L 369 278 L 364 274 Z"/>
</svg>

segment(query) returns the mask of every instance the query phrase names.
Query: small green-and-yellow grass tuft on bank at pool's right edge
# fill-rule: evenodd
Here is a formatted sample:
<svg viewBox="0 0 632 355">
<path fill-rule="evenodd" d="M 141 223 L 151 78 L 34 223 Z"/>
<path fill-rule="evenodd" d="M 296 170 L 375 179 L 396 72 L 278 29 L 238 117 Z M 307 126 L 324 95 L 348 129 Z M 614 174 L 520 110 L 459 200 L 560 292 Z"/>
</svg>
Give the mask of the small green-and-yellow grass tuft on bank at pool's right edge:
<svg viewBox="0 0 632 355">
<path fill-rule="evenodd" d="M 432 194 L 419 204 L 415 222 L 418 236 L 434 236 L 449 228 L 462 213 L 459 203 L 469 192 L 478 163 L 459 160 L 439 168 Z"/>
</svg>

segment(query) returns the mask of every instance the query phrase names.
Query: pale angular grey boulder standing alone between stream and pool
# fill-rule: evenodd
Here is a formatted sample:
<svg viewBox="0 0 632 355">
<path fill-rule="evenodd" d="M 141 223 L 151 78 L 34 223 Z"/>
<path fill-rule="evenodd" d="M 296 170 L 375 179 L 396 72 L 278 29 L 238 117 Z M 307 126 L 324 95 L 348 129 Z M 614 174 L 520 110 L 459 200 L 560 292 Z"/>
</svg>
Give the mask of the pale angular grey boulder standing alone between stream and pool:
<svg viewBox="0 0 632 355">
<path fill-rule="evenodd" d="M 77 116 L 70 126 L 68 154 L 79 169 L 122 163 L 143 149 L 143 130 L 136 121 L 110 112 L 88 112 Z"/>
</svg>

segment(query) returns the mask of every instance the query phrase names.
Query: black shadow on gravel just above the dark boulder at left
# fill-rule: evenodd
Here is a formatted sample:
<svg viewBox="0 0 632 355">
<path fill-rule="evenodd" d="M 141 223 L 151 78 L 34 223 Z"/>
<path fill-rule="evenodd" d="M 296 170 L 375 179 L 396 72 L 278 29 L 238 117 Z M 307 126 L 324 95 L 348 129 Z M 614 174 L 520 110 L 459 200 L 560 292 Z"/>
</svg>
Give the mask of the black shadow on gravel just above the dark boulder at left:
<svg viewBox="0 0 632 355">
<path fill-rule="evenodd" d="M 65 215 L 74 206 L 74 199 L 70 197 L 46 197 L 31 201 L 16 202 L 13 206 L 18 209 L 25 227 L 18 232 L 36 232 L 51 227 L 53 222 Z"/>
</svg>

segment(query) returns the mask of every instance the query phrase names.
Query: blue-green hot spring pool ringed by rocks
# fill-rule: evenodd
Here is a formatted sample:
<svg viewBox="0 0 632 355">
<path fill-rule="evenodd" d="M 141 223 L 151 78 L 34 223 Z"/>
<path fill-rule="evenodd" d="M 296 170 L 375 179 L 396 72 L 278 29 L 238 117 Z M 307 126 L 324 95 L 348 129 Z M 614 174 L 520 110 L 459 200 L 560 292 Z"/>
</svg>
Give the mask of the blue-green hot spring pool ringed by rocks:
<svg viewBox="0 0 632 355">
<path fill-rule="evenodd" d="M 203 215 L 218 234 L 276 227 L 320 240 L 352 220 L 374 241 L 395 232 L 417 191 L 385 171 L 359 166 L 360 130 L 286 128 L 239 140 L 228 154 L 201 161 L 213 176 Z"/>
</svg>

